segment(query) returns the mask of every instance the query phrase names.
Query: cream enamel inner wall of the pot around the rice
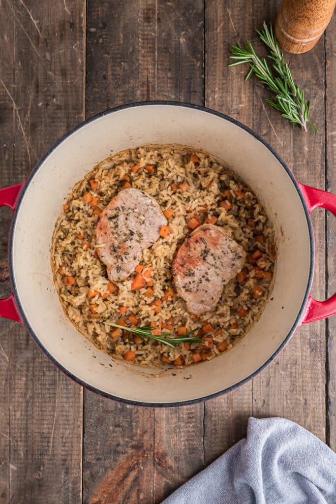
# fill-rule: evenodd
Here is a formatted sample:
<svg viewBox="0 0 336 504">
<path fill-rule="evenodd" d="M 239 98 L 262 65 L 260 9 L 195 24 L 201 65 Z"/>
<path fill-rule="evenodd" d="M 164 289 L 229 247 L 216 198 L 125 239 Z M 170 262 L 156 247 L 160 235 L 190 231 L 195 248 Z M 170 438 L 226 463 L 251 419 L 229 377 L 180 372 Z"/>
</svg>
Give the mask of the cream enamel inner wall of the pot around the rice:
<svg viewBox="0 0 336 504">
<path fill-rule="evenodd" d="M 276 229 L 278 262 L 273 300 L 268 301 L 261 319 L 230 352 L 182 370 L 139 368 L 105 355 L 65 317 L 52 282 L 51 235 L 66 195 L 112 152 L 149 143 L 201 147 L 224 160 L 251 185 Z M 175 105 L 113 111 L 62 141 L 31 180 L 18 209 L 13 235 L 17 293 L 41 344 L 82 382 L 117 398 L 144 403 L 195 400 L 253 374 L 291 331 L 303 302 L 309 269 L 305 212 L 277 158 L 238 125 L 203 110 Z"/>
</svg>

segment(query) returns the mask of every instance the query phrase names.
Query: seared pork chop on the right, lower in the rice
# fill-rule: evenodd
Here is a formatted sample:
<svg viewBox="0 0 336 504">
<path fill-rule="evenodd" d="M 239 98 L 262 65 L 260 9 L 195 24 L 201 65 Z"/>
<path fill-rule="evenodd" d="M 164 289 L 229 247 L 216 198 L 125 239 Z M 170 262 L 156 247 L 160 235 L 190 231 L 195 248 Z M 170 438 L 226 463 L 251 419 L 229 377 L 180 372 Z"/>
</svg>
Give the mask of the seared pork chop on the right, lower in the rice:
<svg viewBox="0 0 336 504">
<path fill-rule="evenodd" d="M 187 310 L 201 315 L 218 303 L 223 287 L 244 266 L 246 254 L 219 226 L 203 224 L 193 231 L 179 249 L 172 273 Z"/>
</svg>

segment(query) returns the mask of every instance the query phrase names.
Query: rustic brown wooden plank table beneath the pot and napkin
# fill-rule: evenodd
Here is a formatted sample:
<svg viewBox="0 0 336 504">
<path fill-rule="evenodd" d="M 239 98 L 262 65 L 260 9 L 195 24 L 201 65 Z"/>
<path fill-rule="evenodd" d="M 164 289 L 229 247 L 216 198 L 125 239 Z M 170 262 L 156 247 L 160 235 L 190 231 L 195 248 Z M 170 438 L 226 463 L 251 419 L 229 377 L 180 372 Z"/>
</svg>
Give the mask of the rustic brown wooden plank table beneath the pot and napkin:
<svg viewBox="0 0 336 504">
<path fill-rule="evenodd" d="M 253 0 L 4 0 L 0 16 L 0 185 L 21 182 L 65 132 L 102 110 L 179 100 L 262 135 L 300 181 L 336 192 L 334 16 L 319 43 L 287 55 L 318 133 L 292 131 L 228 49 L 274 20 Z M 42 209 L 41 209 L 42 211 Z M 0 280 L 10 291 L 11 212 L 1 212 Z M 318 299 L 336 290 L 336 221 L 313 215 Z M 290 288 L 290 284 L 288 286 Z M 23 326 L 0 322 L 0 504 L 158 503 L 246 435 L 249 416 L 284 416 L 336 450 L 336 318 L 299 329 L 253 381 L 218 399 L 153 409 L 99 397 L 58 371 Z"/>
</svg>

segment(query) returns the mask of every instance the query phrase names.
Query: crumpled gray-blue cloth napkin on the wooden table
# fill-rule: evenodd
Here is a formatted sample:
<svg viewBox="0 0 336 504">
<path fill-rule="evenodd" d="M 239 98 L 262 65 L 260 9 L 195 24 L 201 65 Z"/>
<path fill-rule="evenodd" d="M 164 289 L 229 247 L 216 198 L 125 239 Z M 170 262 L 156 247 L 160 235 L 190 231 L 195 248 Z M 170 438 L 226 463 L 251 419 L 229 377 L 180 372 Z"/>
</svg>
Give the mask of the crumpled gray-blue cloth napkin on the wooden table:
<svg viewBox="0 0 336 504">
<path fill-rule="evenodd" d="M 248 421 L 242 439 L 162 504 L 336 504 L 336 454 L 290 420 Z"/>
</svg>

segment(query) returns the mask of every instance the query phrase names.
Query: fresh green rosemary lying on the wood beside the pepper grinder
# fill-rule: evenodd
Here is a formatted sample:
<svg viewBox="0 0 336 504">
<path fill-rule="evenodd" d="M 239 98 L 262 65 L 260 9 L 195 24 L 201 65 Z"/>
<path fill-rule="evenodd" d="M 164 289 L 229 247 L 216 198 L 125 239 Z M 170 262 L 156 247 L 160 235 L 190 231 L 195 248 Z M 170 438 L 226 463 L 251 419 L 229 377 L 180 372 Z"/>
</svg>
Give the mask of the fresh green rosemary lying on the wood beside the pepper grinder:
<svg viewBox="0 0 336 504">
<path fill-rule="evenodd" d="M 295 124 L 299 124 L 306 132 L 307 124 L 310 125 L 313 134 L 317 132 L 316 126 L 309 120 L 310 101 L 304 98 L 304 90 L 300 91 L 299 87 L 294 84 L 293 77 L 289 66 L 285 62 L 284 55 L 280 51 L 277 39 L 273 33 L 272 25 L 268 30 L 266 23 L 262 25 L 262 29 L 256 30 L 262 42 L 268 48 L 268 58 L 272 59 L 272 68 L 276 72 L 275 76 L 272 73 L 270 66 L 265 58 L 259 58 L 251 43 L 245 38 L 247 49 L 241 47 L 240 43 L 231 47 L 230 51 L 233 56 L 231 59 L 236 59 L 235 63 L 228 65 L 242 65 L 247 63 L 250 67 L 245 81 L 253 72 L 267 89 L 274 93 L 274 100 L 266 100 L 268 104 L 282 112 L 282 116 L 286 117 L 292 123 L 293 129 Z"/>
</svg>

